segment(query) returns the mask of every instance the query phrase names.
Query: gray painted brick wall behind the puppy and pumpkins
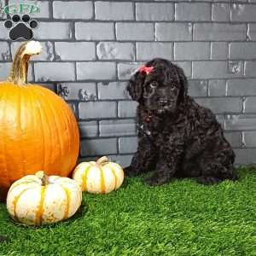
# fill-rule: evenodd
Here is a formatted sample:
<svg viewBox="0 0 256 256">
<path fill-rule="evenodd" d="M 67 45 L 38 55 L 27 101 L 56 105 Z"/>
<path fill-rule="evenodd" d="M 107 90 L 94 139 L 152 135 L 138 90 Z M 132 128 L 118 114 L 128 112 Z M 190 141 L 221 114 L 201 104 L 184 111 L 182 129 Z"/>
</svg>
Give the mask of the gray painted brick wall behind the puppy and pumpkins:
<svg viewBox="0 0 256 256">
<path fill-rule="evenodd" d="M 128 96 L 126 81 L 159 56 L 182 67 L 189 95 L 217 114 L 236 164 L 256 163 L 256 1 L 26 2 L 41 9 L 32 17 L 38 20 L 34 38 L 43 46 L 29 80 L 55 90 L 73 109 L 79 161 L 107 154 L 130 163 L 137 148 L 137 102 Z M 9 40 L 5 19 L 0 13 L 1 80 L 19 45 Z"/>
</svg>

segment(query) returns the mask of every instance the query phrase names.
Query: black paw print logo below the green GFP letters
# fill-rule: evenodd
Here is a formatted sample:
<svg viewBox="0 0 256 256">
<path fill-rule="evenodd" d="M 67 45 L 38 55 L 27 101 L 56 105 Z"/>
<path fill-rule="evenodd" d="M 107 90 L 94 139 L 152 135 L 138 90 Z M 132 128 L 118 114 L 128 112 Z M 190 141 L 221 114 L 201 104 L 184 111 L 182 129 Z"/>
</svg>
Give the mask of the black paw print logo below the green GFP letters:
<svg viewBox="0 0 256 256">
<path fill-rule="evenodd" d="M 16 40 L 24 38 L 29 40 L 33 37 L 32 29 L 38 26 L 37 20 L 31 20 L 29 15 L 13 15 L 11 20 L 6 20 L 4 26 L 9 28 L 9 38 Z"/>
</svg>

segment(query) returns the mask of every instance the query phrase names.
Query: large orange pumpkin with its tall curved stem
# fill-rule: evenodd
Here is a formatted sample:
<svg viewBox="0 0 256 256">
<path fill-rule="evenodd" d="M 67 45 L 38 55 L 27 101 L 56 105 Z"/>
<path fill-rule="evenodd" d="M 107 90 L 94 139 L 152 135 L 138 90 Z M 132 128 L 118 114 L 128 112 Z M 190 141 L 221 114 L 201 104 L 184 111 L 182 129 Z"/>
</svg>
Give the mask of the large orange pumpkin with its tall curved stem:
<svg viewBox="0 0 256 256">
<path fill-rule="evenodd" d="M 27 84 L 29 59 L 40 52 L 38 42 L 21 44 L 8 81 L 0 83 L 0 201 L 20 177 L 38 170 L 67 177 L 78 159 L 79 128 L 67 103 Z"/>
</svg>

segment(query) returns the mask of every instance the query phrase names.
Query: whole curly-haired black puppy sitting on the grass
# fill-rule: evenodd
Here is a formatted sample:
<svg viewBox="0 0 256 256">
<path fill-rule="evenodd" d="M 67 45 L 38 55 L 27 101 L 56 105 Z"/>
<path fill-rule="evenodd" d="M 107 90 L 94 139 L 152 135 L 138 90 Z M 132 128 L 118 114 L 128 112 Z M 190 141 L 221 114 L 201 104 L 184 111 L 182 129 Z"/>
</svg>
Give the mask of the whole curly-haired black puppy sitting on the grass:
<svg viewBox="0 0 256 256">
<path fill-rule="evenodd" d="M 125 173 L 154 170 L 146 180 L 150 185 L 172 177 L 195 177 L 204 184 L 236 180 L 230 143 L 212 111 L 187 95 L 183 69 L 164 59 L 148 61 L 146 67 L 153 71 L 138 71 L 127 85 L 131 98 L 139 102 L 139 140 Z"/>
</svg>

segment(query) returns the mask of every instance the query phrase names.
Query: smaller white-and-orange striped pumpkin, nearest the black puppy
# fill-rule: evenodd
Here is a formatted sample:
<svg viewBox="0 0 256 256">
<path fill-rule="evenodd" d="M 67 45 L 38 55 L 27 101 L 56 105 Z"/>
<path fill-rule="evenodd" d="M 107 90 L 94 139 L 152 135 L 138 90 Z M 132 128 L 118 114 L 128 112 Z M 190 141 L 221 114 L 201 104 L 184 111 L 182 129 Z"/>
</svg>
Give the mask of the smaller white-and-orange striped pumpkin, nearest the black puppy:
<svg viewBox="0 0 256 256">
<path fill-rule="evenodd" d="M 73 172 L 82 191 L 94 194 L 107 194 L 119 189 L 124 181 L 124 171 L 121 166 L 110 162 L 107 156 L 99 160 L 83 162 Z"/>
</svg>

